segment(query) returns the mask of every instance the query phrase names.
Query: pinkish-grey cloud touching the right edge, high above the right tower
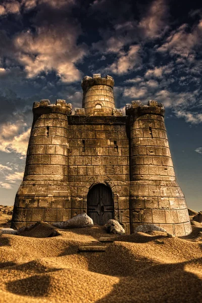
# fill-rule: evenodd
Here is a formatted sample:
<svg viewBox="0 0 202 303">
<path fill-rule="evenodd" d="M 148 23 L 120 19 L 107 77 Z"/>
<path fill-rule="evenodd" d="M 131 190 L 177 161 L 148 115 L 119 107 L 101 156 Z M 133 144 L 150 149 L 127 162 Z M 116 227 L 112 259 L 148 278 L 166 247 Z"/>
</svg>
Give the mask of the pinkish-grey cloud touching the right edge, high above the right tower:
<svg viewBox="0 0 202 303">
<path fill-rule="evenodd" d="M 190 62 L 194 60 L 194 48 L 201 45 L 202 19 L 188 32 L 188 25 L 182 24 L 171 32 L 166 42 L 157 50 L 161 53 L 169 52 L 171 56 L 178 55 Z"/>
</svg>

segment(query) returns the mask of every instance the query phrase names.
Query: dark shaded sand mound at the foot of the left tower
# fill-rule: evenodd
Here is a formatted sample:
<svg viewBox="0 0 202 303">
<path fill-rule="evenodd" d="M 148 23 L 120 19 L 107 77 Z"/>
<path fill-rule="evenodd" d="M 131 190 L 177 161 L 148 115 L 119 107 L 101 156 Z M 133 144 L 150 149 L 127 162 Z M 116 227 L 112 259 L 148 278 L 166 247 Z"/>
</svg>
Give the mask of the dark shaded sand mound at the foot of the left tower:
<svg viewBox="0 0 202 303">
<path fill-rule="evenodd" d="M 33 238 L 49 238 L 60 235 L 55 226 L 42 221 L 28 227 L 21 227 L 17 230 L 17 233 L 19 236 Z"/>
</svg>

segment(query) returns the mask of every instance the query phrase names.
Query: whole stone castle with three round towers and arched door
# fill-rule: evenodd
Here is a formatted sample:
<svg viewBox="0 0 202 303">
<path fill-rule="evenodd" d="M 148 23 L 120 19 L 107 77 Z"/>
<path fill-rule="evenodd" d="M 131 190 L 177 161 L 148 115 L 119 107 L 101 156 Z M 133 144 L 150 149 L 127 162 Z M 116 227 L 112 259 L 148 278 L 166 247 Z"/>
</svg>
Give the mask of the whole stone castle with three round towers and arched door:
<svg viewBox="0 0 202 303">
<path fill-rule="evenodd" d="M 23 182 L 13 228 L 61 222 L 87 213 L 99 225 L 114 218 L 133 233 L 156 224 L 177 236 L 191 226 L 176 182 L 163 104 L 132 101 L 115 109 L 111 76 L 84 77 L 82 108 L 65 100 L 33 105 Z"/>
</svg>

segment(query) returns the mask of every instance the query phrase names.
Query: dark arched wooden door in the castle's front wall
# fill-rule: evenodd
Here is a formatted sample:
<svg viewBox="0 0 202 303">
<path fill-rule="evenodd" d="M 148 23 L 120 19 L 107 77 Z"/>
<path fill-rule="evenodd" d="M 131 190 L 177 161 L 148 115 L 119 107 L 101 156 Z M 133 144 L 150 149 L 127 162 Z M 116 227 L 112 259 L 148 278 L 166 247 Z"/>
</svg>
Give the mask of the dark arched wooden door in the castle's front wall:
<svg viewBox="0 0 202 303">
<path fill-rule="evenodd" d="M 92 186 L 87 195 L 87 214 L 98 225 L 105 225 L 114 218 L 114 201 L 110 187 L 104 184 Z"/>
</svg>

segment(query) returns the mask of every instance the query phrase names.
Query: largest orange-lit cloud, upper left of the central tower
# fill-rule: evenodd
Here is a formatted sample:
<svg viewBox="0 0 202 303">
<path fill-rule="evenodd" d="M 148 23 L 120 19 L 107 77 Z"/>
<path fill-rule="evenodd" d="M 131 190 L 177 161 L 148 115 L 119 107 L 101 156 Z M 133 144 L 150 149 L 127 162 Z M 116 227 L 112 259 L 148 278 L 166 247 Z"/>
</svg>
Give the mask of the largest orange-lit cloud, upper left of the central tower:
<svg viewBox="0 0 202 303">
<path fill-rule="evenodd" d="M 87 54 L 84 44 L 77 45 L 79 33 L 79 27 L 65 23 L 20 33 L 14 40 L 16 59 L 28 78 L 55 70 L 63 82 L 78 81 L 82 74 L 75 64 Z"/>
</svg>

